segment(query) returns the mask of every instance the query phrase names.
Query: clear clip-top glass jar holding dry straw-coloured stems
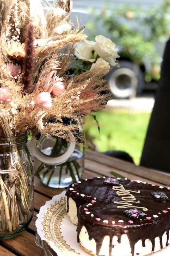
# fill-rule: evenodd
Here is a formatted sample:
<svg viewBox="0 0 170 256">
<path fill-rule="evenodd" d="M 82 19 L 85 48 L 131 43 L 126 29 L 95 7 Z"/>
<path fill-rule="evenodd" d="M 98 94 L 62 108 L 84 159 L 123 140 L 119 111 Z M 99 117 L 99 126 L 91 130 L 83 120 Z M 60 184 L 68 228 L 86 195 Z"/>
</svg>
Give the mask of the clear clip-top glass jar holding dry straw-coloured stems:
<svg viewBox="0 0 170 256">
<path fill-rule="evenodd" d="M 0 240 L 28 227 L 34 211 L 33 178 L 27 134 L 0 138 Z"/>
</svg>

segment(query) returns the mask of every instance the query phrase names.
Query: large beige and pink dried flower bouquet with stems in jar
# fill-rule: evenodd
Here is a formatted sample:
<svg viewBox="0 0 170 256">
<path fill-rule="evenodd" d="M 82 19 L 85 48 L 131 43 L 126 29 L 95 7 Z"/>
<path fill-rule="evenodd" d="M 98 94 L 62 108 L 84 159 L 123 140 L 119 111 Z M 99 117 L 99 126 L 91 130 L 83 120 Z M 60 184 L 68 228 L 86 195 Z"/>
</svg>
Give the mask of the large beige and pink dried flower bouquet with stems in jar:
<svg viewBox="0 0 170 256">
<path fill-rule="evenodd" d="M 75 43 L 87 38 L 70 21 L 72 0 L 46 5 L 45 16 L 41 4 L 33 11 L 34 2 L 0 0 L 0 137 L 12 141 L 41 133 L 69 140 L 68 132 L 76 134 L 77 126 L 63 119 L 78 122 L 106 105 L 108 95 L 101 92 L 107 89 L 103 75 L 109 66 L 69 77 Z M 8 169 L 14 167 L 10 164 Z M 15 171 L 0 174 L 0 188 L 0 232 L 13 232 L 29 219 L 32 200 L 17 157 Z"/>
</svg>

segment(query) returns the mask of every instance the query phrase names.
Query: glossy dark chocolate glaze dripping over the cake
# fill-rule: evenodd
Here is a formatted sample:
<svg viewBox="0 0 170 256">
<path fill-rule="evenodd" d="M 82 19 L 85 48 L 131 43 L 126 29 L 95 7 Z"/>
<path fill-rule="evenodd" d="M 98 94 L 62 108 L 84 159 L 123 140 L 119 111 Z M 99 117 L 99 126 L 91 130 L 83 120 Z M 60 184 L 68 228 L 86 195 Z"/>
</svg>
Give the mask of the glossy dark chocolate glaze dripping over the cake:
<svg viewBox="0 0 170 256">
<path fill-rule="evenodd" d="M 155 251 L 155 238 L 166 232 L 167 242 L 170 231 L 170 190 L 154 184 L 144 184 L 128 179 L 96 177 L 71 184 L 66 192 L 67 202 L 71 197 L 78 210 L 78 242 L 81 228 L 87 229 L 89 240 L 96 242 L 96 255 L 99 255 L 105 236 L 110 237 L 109 255 L 112 239 L 126 234 L 132 255 L 135 244 L 142 240 L 152 242 Z M 69 204 L 67 203 L 67 212 Z"/>
</svg>

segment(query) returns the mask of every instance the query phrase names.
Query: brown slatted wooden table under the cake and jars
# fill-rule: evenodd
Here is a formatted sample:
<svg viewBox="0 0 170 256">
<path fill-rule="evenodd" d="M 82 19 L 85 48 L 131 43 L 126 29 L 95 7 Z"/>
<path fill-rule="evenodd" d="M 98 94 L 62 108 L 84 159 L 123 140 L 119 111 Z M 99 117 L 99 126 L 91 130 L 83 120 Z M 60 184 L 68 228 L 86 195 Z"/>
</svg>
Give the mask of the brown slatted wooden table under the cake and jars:
<svg viewBox="0 0 170 256">
<path fill-rule="evenodd" d="M 114 174 L 115 173 L 115 174 Z M 95 176 L 127 177 L 129 179 L 139 179 L 156 185 L 169 185 L 170 174 L 146 169 L 127 163 L 115 158 L 87 151 L 85 160 L 85 171 L 83 178 Z M 28 229 L 16 238 L 0 241 L 0 256 L 40 256 L 41 251 L 35 245 L 34 235 L 36 232 L 35 220 L 40 207 L 56 194 L 60 194 L 64 189 L 52 189 L 41 184 L 35 177 L 34 195 L 34 216 Z"/>
</svg>

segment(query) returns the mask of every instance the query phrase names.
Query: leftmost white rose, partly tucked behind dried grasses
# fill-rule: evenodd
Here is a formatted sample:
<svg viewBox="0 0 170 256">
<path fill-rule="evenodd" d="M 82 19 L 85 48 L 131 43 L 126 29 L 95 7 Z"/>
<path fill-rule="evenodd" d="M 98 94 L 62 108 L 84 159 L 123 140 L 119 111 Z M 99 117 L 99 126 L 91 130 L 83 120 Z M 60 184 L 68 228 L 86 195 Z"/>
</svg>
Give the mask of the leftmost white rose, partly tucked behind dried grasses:
<svg viewBox="0 0 170 256">
<path fill-rule="evenodd" d="M 78 59 L 89 62 L 95 62 L 92 51 L 94 51 L 95 42 L 85 40 L 82 43 L 76 43 L 75 55 Z"/>
</svg>

